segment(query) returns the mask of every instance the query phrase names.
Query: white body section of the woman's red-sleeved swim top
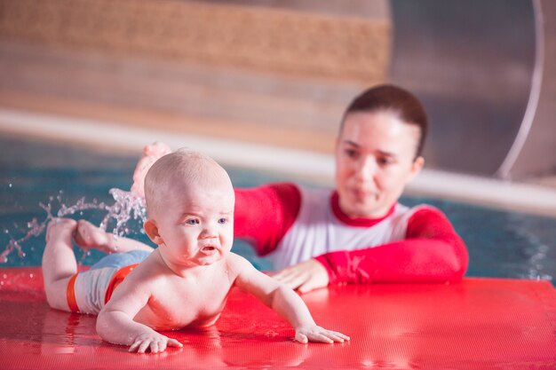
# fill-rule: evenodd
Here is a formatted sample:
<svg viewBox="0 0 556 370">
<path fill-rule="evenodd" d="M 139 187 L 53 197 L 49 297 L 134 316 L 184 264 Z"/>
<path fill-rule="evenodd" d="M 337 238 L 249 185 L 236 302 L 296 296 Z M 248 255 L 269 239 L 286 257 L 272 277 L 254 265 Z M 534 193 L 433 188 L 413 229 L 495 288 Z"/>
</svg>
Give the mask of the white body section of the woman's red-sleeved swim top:
<svg viewBox="0 0 556 370">
<path fill-rule="evenodd" d="M 299 187 L 301 207 L 298 217 L 286 232 L 277 248 L 268 255 L 274 269 L 281 270 L 337 250 L 372 248 L 404 240 L 409 217 L 417 209 L 397 204 L 393 213 L 372 226 L 344 224 L 334 215 L 331 208 L 329 189 Z"/>
</svg>

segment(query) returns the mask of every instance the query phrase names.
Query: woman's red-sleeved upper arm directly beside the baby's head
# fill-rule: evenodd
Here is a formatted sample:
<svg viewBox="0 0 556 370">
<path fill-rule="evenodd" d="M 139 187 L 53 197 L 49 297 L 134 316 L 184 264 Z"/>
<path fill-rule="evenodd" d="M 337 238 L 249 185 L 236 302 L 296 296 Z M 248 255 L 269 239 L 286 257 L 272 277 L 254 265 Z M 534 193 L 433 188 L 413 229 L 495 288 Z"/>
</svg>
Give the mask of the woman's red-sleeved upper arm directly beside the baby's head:
<svg viewBox="0 0 556 370">
<path fill-rule="evenodd" d="M 282 183 L 235 189 L 234 237 L 250 241 L 259 256 L 272 252 L 301 207 L 298 186 Z"/>
</svg>

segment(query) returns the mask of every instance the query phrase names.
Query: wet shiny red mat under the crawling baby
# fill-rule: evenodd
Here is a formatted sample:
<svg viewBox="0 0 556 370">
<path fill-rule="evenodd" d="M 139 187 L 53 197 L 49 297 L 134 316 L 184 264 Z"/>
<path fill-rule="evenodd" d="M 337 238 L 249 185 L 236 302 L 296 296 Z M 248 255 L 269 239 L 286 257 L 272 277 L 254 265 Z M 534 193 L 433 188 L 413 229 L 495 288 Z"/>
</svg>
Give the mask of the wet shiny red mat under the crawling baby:
<svg viewBox="0 0 556 370">
<path fill-rule="evenodd" d="M 274 311 L 234 291 L 216 327 L 166 333 L 183 349 L 131 354 L 100 340 L 95 317 L 51 310 L 40 268 L 0 269 L 0 369 L 555 369 L 556 289 L 465 279 L 302 295 L 323 327 L 352 337 L 300 344 Z"/>
</svg>

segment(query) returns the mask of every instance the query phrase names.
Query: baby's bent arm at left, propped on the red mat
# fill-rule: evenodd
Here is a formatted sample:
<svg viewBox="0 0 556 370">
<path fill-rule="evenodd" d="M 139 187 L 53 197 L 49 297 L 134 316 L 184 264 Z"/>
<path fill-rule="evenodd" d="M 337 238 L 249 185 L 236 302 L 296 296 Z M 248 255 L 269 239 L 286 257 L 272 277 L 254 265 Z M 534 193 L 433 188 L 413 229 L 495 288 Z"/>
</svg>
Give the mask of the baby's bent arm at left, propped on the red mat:
<svg viewBox="0 0 556 370">
<path fill-rule="evenodd" d="M 135 272 L 135 271 L 134 271 Z M 153 353 L 166 350 L 167 346 L 182 347 L 175 339 L 157 333 L 154 329 L 133 321 L 135 315 L 147 305 L 150 297 L 147 284 L 141 284 L 138 274 L 128 275 L 114 291 L 107 305 L 99 312 L 97 332 L 107 342 L 130 346 L 130 352 Z M 133 279 L 136 278 L 136 279 Z"/>
</svg>

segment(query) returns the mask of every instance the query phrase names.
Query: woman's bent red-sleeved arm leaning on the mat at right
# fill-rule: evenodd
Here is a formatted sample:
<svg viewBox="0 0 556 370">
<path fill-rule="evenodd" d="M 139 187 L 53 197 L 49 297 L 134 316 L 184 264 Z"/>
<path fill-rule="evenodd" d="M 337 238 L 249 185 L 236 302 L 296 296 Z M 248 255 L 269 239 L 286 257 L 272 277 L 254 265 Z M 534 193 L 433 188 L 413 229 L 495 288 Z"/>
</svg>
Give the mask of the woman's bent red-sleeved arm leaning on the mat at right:
<svg viewBox="0 0 556 370">
<path fill-rule="evenodd" d="M 409 218 L 406 240 L 316 257 L 330 284 L 458 281 L 467 270 L 464 241 L 438 209 Z"/>
</svg>

